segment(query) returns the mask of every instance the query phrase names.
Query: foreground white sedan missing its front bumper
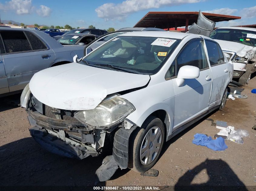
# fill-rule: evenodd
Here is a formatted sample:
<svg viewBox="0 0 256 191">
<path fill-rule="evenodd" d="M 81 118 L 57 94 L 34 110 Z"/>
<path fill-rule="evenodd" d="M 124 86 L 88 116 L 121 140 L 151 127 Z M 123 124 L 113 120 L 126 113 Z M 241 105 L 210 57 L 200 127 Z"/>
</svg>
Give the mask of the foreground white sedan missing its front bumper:
<svg viewBox="0 0 256 191">
<path fill-rule="evenodd" d="M 21 96 L 32 137 L 69 158 L 113 154 L 96 171 L 145 172 L 164 142 L 222 109 L 233 65 L 208 37 L 158 31 L 121 34 L 74 63 L 36 73 Z"/>
</svg>

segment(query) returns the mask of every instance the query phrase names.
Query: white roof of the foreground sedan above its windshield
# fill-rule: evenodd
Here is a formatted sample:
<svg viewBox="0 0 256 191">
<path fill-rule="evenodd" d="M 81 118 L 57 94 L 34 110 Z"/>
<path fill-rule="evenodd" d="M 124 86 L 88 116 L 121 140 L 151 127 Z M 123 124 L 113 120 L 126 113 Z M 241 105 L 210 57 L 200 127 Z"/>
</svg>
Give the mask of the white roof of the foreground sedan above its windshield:
<svg viewBox="0 0 256 191">
<path fill-rule="evenodd" d="M 166 33 L 165 31 L 134 31 L 131 33 L 124 33 L 119 36 L 139 36 L 139 37 L 159 37 L 159 38 L 175 38 L 175 39 L 183 39 L 187 36 L 191 35 L 191 37 L 195 38 L 207 38 L 204 36 L 200 36 L 197 34 L 191 34 L 191 33 L 177 33 L 177 32 L 169 32 Z"/>
</svg>

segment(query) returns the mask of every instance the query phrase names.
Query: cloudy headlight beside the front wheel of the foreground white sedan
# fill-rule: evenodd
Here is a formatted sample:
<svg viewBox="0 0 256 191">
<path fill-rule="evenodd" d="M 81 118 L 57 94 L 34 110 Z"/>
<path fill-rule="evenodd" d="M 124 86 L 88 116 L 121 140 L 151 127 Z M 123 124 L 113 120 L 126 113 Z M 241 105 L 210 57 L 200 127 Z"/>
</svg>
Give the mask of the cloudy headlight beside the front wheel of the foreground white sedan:
<svg viewBox="0 0 256 191">
<path fill-rule="evenodd" d="M 93 110 L 78 111 L 74 117 L 81 123 L 95 127 L 116 125 L 135 110 L 135 107 L 121 97 L 113 97 L 102 101 Z"/>
</svg>

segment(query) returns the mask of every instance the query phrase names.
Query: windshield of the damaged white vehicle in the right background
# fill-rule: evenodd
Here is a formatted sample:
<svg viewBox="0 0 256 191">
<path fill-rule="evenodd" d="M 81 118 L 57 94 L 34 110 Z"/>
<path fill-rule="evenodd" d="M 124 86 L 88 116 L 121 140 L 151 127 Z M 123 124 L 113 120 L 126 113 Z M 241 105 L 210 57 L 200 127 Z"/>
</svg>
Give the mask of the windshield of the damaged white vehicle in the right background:
<svg viewBox="0 0 256 191">
<path fill-rule="evenodd" d="M 256 31 L 242 29 L 216 29 L 210 34 L 210 38 L 242 43 L 256 46 Z"/>
</svg>

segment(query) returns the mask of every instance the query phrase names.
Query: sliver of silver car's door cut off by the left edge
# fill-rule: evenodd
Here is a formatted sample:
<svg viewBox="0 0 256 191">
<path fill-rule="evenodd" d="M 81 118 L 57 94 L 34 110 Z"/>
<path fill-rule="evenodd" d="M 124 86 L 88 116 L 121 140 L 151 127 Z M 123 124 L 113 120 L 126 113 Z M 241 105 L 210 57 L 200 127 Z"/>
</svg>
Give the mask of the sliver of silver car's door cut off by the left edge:
<svg viewBox="0 0 256 191">
<path fill-rule="evenodd" d="M 9 92 L 8 81 L 7 81 L 7 77 L 5 75 L 4 59 L 1 55 L 1 53 L 5 53 L 5 48 L 4 48 L 4 45 L 2 43 L 2 39 L 0 36 L 0 95 Z"/>
</svg>

